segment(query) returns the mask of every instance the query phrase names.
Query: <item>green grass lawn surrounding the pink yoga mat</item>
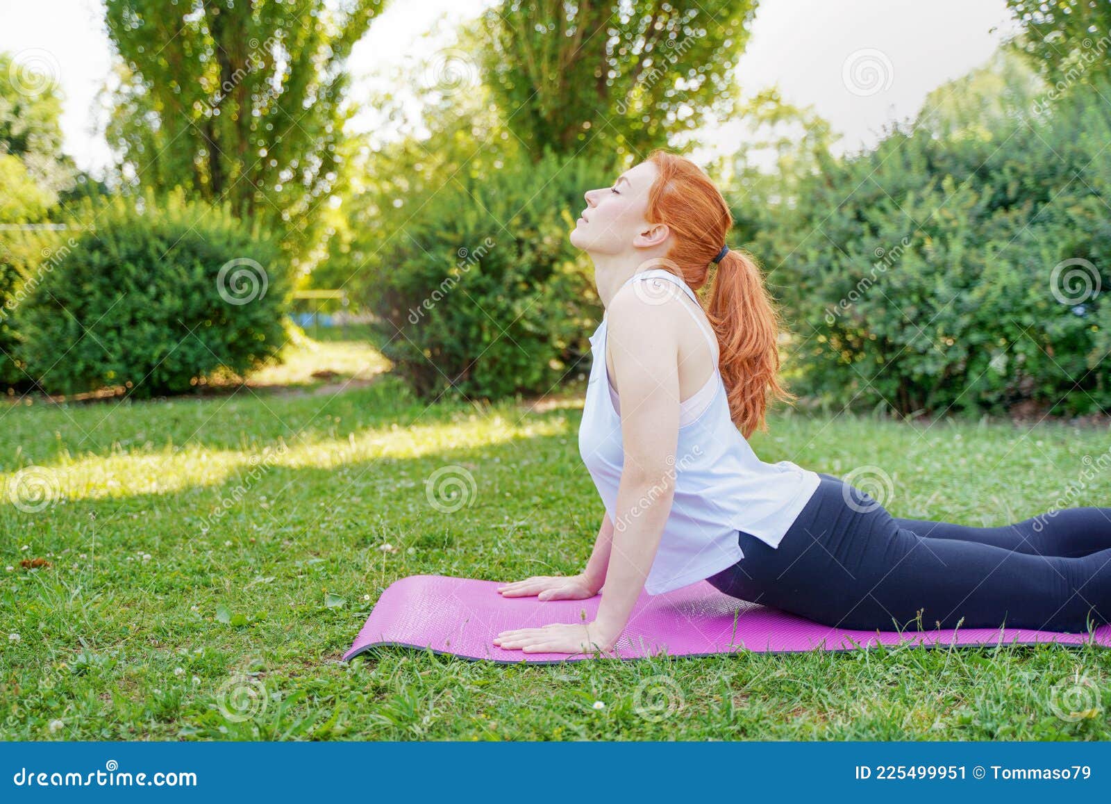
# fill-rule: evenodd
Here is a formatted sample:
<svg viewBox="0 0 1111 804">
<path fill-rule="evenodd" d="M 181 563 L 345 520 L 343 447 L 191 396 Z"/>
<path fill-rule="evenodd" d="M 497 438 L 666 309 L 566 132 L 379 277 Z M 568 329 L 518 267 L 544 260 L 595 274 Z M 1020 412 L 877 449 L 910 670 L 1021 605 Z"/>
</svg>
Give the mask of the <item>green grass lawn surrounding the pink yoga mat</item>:
<svg viewBox="0 0 1111 804">
<path fill-rule="evenodd" d="M 344 377 L 377 365 L 326 347 L 314 359 Z M 291 365 L 286 380 L 308 376 Z M 1111 652 L 1091 647 L 341 663 L 398 578 L 578 572 L 602 506 L 578 456 L 581 399 L 428 407 L 389 375 L 336 391 L 0 408 L 0 484 L 44 506 L 0 504 L 0 737 L 1111 738 Z M 1105 430 L 1028 429 L 781 414 L 752 440 L 768 461 L 879 467 L 895 516 L 999 525 L 1051 507 L 1111 446 Z M 474 478 L 453 514 L 426 496 L 447 465 Z M 1111 499 L 1107 473 L 1084 483 L 1073 505 Z M 20 566 L 34 557 L 52 566 Z M 1055 714 L 1070 687 L 1090 716 Z M 228 716 L 241 706 L 252 716 Z"/>
</svg>

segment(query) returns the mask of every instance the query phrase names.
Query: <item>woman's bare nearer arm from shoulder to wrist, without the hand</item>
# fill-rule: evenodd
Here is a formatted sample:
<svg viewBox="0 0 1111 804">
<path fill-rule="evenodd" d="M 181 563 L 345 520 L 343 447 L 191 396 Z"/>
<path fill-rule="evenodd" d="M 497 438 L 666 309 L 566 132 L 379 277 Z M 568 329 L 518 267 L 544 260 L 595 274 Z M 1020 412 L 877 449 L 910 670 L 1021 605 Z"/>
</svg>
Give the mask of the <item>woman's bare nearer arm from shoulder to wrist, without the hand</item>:
<svg viewBox="0 0 1111 804">
<path fill-rule="evenodd" d="M 593 623 L 604 647 L 624 629 L 655 558 L 674 500 L 679 443 L 679 343 L 672 317 L 635 295 L 610 310 L 613 369 L 621 389 L 624 466 L 605 592 Z M 593 559 L 593 557 L 592 557 Z"/>
</svg>

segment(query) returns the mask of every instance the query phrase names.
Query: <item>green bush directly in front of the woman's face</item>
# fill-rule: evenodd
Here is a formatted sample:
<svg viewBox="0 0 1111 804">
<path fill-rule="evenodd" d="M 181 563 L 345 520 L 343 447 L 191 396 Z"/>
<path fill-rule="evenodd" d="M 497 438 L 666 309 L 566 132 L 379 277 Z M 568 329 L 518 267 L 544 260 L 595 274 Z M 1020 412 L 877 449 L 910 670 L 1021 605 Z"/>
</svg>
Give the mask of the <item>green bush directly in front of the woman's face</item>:
<svg viewBox="0 0 1111 804">
<path fill-rule="evenodd" d="M 549 393 L 601 315 L 568 234 L 583 191 L 607 179 L 587 160 L 499 156 L 437 166 L 429 180 L 391 173 L 408 186 L 361 199 L 366 219 L 351 228 L 368 234 L 333 255 L 358 271 L 350 287 L 380 318 L 383 354 L 426 398 Z"/>
</svg>

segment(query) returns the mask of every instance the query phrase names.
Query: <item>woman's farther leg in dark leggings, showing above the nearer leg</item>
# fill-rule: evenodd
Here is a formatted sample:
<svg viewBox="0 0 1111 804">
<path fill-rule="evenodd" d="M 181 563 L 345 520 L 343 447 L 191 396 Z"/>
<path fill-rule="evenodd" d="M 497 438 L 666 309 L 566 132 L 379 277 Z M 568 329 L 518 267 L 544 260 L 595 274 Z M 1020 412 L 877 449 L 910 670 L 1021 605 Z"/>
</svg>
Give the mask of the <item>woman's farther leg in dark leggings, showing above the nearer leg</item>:
<svg viewBox="0 0 1111 804">
<path fill-rule="evenodd" d="M 979 542 L 1039 556 L 1078 557 L 1111 549 L 1111 508 L 1061 508 L 1000 527 L 899 517 L 894 520 L 919 536 Z"/>
</svg>

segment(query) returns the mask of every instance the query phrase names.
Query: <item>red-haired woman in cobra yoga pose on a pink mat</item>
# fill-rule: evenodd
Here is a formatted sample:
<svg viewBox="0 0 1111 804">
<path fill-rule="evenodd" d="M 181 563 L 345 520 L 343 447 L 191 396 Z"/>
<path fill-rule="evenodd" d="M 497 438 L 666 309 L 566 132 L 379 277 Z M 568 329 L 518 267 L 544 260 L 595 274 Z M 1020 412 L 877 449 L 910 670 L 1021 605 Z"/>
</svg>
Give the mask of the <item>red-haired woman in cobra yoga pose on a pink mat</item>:
<svg viewBox="0 0 1111 804">
<path fill-rule="evenodd" d="M 584 599 L 604 580 L 605 592 L 593 622 L 507 631 L 493 644 L 609 652 L 642 589 L 703 578 L 842 628 L 1108 622 L 1111 508 L 1003 527 L 899 519 L 837 477 L 755 457 L 747 438 L 767 429 L 765 394 L 791 396 L 777 380 L 779 321 L 754 262 L 723 247 L 732 217 L 693 162 L 655 151 L 585 198 L 571 242 L 594 262 L 605 315 L 579 448 L 605 516 L 580 575 L 498 590 Z M 711 264 L 703 310 L 694 290 Z"/>
</svg>

